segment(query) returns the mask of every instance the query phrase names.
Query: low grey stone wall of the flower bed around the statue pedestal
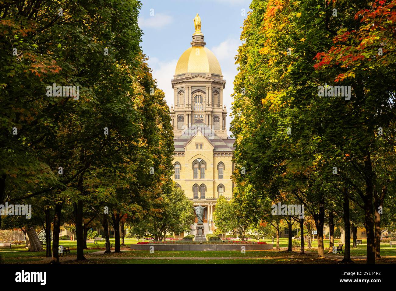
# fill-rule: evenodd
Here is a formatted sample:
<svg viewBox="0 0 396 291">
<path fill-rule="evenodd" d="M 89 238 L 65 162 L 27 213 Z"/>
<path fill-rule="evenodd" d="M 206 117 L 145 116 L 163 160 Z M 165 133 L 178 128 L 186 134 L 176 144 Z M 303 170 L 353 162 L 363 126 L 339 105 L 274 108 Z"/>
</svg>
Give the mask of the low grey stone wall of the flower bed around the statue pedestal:
<svg viewBox="0 0 396 291">
<path fill-rule="evenodd" d="M 149 251 L 154 246 L 154 251 L 240 251 L 244 246 L 246 251 L 262 251 L 272 249 L 272 244 L 227 244 L 227 245 L 162 245 L 162 244 L 131 244 L 131 250 Z"/>
</svg>

